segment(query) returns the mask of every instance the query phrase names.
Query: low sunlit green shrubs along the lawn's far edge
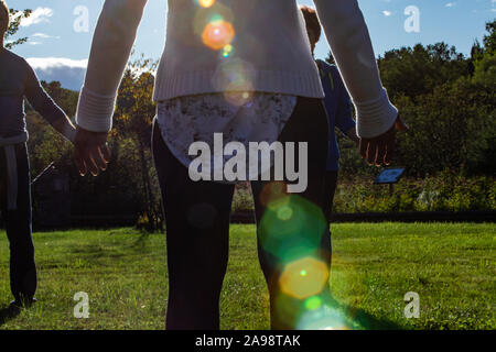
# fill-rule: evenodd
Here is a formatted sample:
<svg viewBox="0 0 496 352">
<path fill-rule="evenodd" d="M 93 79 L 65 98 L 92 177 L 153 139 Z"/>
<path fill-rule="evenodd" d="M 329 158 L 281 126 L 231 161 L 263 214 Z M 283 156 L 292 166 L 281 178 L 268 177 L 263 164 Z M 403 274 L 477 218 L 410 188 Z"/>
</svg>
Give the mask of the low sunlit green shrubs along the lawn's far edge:
<svg viewBox="0 0 496 352">
<path fill-rule="evenodd" d="M 249 185 L 238 185 L 233 211 L 252 209 Z M 494 177 L 464 177 L 448 170 L 435 177 L 405 178 L 395 185 L 392 196 L 389 186 L 356 177 L 338 182 L 333 206 L 336 213 L 467 210 L 496 210 Z"/>
</svg>

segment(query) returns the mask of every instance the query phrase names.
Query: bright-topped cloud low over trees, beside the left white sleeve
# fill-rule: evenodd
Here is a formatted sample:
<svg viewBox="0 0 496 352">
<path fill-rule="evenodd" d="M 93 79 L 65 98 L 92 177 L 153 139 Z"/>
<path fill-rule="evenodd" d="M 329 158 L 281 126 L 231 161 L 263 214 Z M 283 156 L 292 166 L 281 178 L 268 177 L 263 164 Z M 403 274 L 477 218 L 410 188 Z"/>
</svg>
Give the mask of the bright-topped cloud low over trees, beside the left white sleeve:
<svg viewBox="0 0 496 352">
<path fill-rule="evenodd" d="M 30 57 L 26 61 L 41 80 L 58 80 L 62 87 L 73 90 L 83 86 L 88 65 L 87 59 L 66 57 Z"/>
</svg>

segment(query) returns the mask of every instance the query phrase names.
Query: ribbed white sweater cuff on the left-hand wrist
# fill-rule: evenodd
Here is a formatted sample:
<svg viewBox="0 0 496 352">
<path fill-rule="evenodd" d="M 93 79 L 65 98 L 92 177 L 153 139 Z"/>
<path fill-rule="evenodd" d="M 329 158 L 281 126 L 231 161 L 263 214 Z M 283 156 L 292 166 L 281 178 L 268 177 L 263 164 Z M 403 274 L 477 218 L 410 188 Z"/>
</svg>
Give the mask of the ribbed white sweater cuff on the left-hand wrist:
<svg viewBox="0 0 496 352">
<path fill-rule="evenodd" d="M 103 96 L 85 87 L 80 90 L 76 123 L 91 132 L 109 132 L 117 96 Z"/>
</svg>

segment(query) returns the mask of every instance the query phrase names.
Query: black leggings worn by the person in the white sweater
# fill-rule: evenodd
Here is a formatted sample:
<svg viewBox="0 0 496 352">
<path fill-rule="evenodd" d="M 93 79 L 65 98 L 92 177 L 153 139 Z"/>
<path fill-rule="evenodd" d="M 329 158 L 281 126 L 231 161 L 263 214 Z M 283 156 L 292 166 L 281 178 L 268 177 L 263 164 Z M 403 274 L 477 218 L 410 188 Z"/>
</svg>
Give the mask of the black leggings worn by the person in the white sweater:
<svg viewBox="0 0 496 352">
<path fill-rule="evenodd" d="M 328 292 L 331 241 L 328 223 L 322 210 L 325 202 L 323 189 L 327 131 L 321 100 L 298 98 L 294 112 L 279 141 L 309 143 L 306 190 L 284 195 L 279 191 L 283 185 L 281 183 L 251 182 L 258 256 L 269 288 L 272 329 L 296 328 L 306 296 L 325 296 Z M 157 122 L 152 145 L 166 227 L 166 329 L 219 329 L 219 296 L 227 268 L 229 218 L 235 187 L 191 180 L 187 168 L 163 142 Z M 282 208 L 277 208 L 278 199 Z M 325 287 L 319 293 L 302 293 L 298 287 L 291 287 L 291 283 L 288 287 L 281 287 L 280 278 L 287 264 L 305 257 L 322 263 L 317 266 L 324 272 L 320 273 L 320 279 L 322 275 L 325 276 Z M 296 292 L 292 293 L 294 289 Z"/>
</svg>

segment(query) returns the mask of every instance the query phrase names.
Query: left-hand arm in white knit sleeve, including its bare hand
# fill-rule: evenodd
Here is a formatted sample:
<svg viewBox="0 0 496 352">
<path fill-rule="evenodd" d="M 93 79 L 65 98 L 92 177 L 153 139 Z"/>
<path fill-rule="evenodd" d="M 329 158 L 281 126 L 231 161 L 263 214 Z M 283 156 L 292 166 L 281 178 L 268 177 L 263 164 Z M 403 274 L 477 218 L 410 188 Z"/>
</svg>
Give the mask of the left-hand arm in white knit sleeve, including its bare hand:
<svg viewBox="0 0 496 352">
<path fill-rule="evenodd" d="M 79 173 L 106 169 L 117 90 L 131 54 L 147 0 L 106 0 L 93 37 L 77 107 L 74 160 Z"/>
</svg>

